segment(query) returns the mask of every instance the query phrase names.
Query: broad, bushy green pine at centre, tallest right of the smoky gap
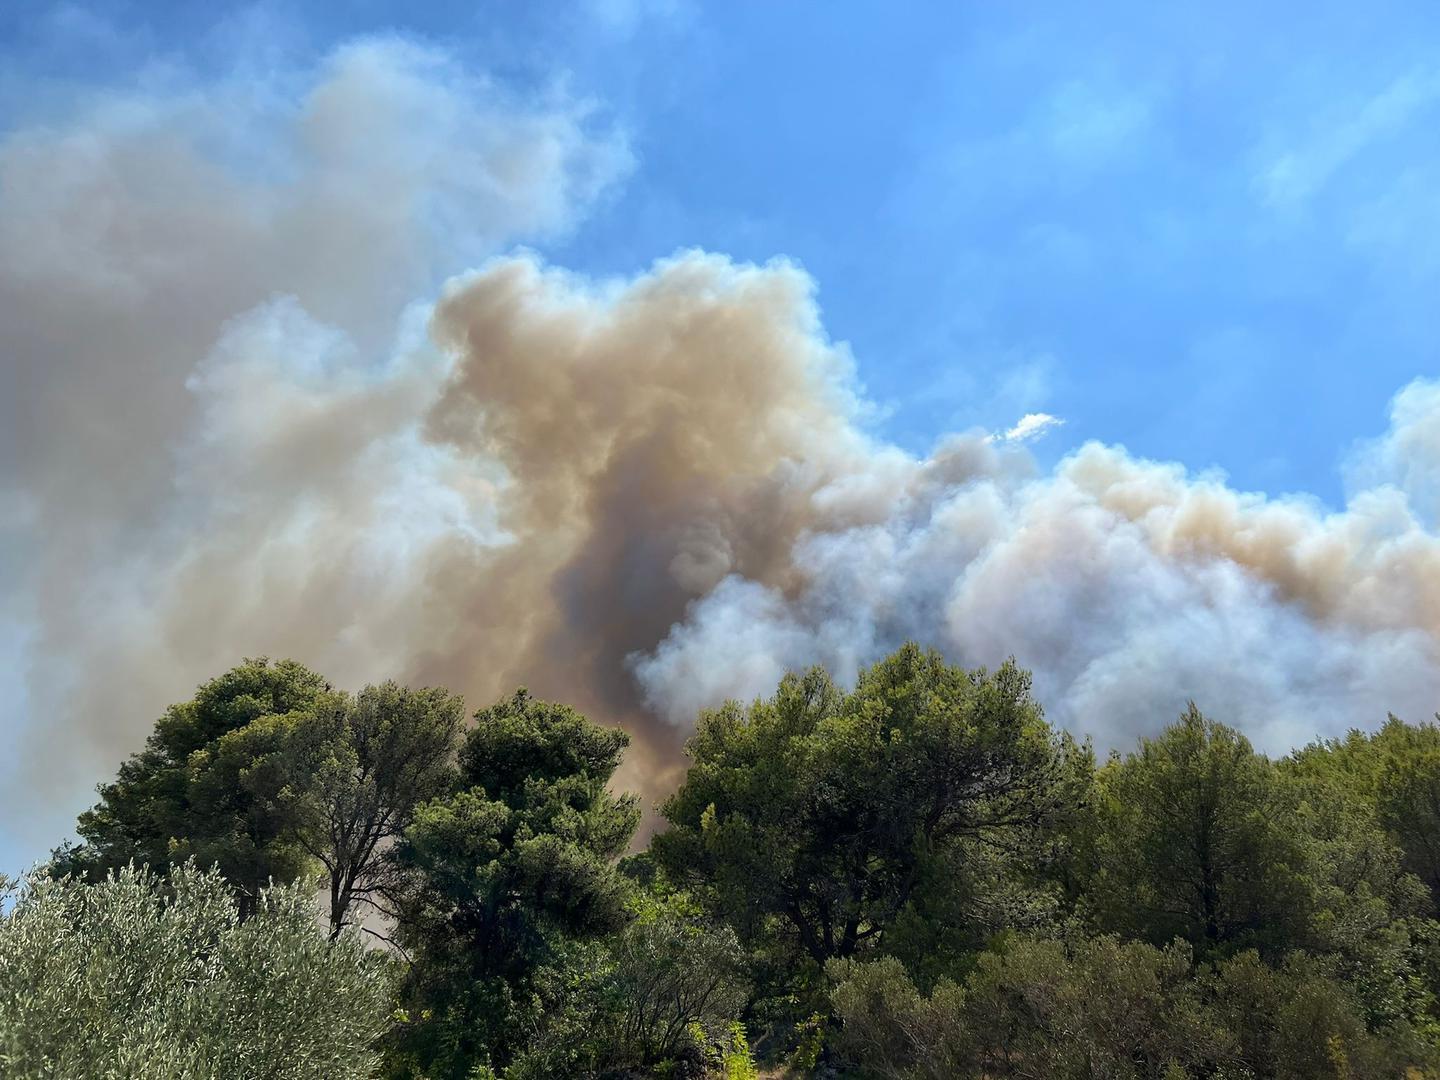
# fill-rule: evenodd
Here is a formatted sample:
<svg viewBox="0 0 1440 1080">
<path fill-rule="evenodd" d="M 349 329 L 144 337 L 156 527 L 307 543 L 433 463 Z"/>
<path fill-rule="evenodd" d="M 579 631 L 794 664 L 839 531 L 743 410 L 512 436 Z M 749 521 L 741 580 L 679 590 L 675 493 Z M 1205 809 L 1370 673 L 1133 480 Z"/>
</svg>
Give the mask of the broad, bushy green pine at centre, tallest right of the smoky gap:
<svg viewBox="0 0 1440 1080">
<path fill-rule="evenodd" d="M 1084 760 L 1012 662 L 966 672 L 916 645 L 850 694 L 816 668 L 768 701 L 704 713 L 687 750 L 657 858 L 747 942 L 789 937 L 814 971 L 881 946 L 982 851 L 1040 852 Z"/>
</svg>

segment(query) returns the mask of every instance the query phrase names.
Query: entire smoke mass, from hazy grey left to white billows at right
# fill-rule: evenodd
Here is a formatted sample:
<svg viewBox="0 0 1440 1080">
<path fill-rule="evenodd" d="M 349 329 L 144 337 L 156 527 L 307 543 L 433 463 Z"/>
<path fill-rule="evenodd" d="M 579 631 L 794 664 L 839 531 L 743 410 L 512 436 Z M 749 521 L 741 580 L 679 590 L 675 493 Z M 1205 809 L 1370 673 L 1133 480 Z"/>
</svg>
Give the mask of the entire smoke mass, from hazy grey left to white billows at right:
<svg viewBox="0 0 1440 1080">
<path fill-rule="evenodd" d="M 1041 474 L 1040 413 L 914 456 L 791 264 L 485 261 L 628 161 L 583 105 L 396 42 L 0 144 L 0 782 L 32 850 L 256 654 L 474 706 L 526 683 L 635 732 L 651 796 L 698 708 L 906 638 L 1018 657 L 1106 744 L 1187 698 L 1269 749 L 1434 710 L 1440 386 L 1339 513 L 1097 444 Z"/>
</svg>

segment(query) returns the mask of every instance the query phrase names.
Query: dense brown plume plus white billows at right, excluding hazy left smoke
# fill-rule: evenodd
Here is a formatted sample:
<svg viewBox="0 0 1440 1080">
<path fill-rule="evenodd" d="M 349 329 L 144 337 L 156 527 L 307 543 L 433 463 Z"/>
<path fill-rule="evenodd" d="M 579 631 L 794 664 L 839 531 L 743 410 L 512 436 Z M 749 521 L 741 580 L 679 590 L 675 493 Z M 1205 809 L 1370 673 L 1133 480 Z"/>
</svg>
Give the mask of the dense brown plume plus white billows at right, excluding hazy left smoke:
<svg viewBox="0 0 1440 1080">
<path fill-rule="evenodd" d="M 454 284 L 432 333 L 455 367 L 428 435 L 503 467 L 514 543 L 435 564 L 474 606 L 431 670 L 503 655 L 661 760 L 697 708 L 909 636 L 1021 657 L 1102 740 L 1194 696 L 1282 747 L 1440 691 L 1440 541 L 1403 485 L 1329 514 L 1096 444 L 1050 477 L 981 435 L 903 455 L 863 433 L 793 266 L 687 253 L 598 288 L 507 259 Z M 1410 459 L 1427 392 L 1374 449 Z"/>
</svg>

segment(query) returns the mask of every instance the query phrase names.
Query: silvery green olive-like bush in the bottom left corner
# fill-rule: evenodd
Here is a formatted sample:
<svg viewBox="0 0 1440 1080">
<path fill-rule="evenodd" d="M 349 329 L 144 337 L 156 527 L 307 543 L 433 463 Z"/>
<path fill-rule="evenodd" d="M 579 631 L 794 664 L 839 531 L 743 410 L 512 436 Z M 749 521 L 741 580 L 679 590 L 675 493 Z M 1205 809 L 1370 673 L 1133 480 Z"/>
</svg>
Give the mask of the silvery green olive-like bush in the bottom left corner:
<svg viewBox="0 0 1440 1080">
<path fill-rule="evenodd" d="M 0 907 L 0 1076 L 372 1076 L 389 960 L 327 940 L 312 896 L 269 888 L 240 923 L 213 870 L 32 874 Z"/>
</svg>

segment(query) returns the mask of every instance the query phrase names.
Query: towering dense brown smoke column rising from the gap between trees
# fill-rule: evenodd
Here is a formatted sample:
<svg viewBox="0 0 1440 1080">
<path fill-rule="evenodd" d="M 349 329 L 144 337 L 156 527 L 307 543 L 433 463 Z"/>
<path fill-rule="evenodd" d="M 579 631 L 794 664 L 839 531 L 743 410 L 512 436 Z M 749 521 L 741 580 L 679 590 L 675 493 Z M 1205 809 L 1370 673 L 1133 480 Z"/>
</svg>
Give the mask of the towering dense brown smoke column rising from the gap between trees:
<svg viewBox="0 0 1440 1080">
<path fill-rule="evenodd" d="M 516 543 L 432 569 L 464 602 L 426 677 L 492 667 L 674 763 L 625 658 L 730 573 L 783 586 L 811 495 L 868 454 L 808 279 L 693 253 L 605 295 L 511 259 L 452 284 L 432 333 L 456 367 L 428 431 L 505 469 Z"/>
</svg>

